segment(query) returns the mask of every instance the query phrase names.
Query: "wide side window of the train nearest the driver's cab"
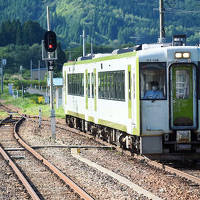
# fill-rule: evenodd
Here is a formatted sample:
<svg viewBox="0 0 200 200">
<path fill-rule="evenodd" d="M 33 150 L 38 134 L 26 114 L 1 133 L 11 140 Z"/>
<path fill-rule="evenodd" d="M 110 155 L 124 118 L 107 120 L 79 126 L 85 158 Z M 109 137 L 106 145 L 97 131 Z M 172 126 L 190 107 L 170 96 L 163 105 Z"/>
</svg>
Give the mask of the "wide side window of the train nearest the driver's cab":
<svg viewBox="0 0 200 200">
<path fill-rule="evenodd" d="M 99 72 L 99 98 L 125 101 L 125 71 Z"/>
</svg>

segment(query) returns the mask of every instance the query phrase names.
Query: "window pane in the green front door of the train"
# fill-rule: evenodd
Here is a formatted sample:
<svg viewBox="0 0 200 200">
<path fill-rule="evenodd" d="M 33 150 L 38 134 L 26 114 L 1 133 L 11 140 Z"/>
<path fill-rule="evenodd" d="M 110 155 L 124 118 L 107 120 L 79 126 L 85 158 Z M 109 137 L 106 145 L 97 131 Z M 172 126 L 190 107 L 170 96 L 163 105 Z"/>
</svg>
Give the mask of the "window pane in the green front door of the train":
<svg viewBox="0 0 200 200">
<path fill-rule="evenodd" d="M 187 99 L 190 94 L 190 80 L 187 70 L 176 71 L 176 98 Z"/>
</svg>

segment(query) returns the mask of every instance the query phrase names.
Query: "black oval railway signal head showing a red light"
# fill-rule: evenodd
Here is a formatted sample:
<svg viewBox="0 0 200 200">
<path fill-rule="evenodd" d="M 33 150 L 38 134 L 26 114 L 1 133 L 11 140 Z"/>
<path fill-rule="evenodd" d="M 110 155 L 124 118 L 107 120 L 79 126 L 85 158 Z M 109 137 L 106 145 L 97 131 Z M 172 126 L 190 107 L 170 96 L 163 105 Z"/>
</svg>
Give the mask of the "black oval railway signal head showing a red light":
<svg viewBox="0 0 200 200">
<path fill-rule="evenodd" d="M 44 46 L 46 51 L 54 52 L 57 48 L 56 34 L 53 31 L 46 31 L 44 35 Z"/>
</svg>

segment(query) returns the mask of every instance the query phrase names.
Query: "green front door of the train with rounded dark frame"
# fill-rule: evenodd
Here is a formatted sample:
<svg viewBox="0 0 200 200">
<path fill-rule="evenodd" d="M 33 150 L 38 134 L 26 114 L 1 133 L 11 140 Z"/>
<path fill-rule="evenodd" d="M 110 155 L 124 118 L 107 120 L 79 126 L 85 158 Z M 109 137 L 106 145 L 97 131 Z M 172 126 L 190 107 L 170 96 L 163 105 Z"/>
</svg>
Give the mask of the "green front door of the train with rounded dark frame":
<svg viewBox="0 0 200 200">
<path fill-rule="evenodd" d="M 196 66 L 170 67 L 170 126 L 174 130 L 197 128 Z"/>
</svg>

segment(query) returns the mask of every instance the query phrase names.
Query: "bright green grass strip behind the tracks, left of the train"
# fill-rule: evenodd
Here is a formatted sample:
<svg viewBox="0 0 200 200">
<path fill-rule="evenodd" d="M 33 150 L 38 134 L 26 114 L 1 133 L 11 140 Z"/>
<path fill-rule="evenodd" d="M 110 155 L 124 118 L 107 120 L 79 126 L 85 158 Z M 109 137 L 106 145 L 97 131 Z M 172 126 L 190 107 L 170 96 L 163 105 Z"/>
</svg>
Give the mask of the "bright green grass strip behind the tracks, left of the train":
<svg viewBox="0 0 200 200">
<path fill-rule="evenodd" d="M 39 108 L 42 110 L 43 117 L 50 117 L 50 106 L 49 104 L 39 104 L 37 103 L 38 95 L 27 95 L 27 97 L 14 98 L 8 94 L 5 89 L 4 94 L 1 94 L 0 99 L 4 100 L 4 104 L 12 104 L 13 106 L 19 108 L 21 112 L 27 115 L 39 115 Z M 64 110 L 62 107 L 55 109 L 56 118 L 65 118 Z M 3 115 L 3 114 L 2 114 Z M 1 116 L 1 113 L 0 113 Z"/>
</svg>

